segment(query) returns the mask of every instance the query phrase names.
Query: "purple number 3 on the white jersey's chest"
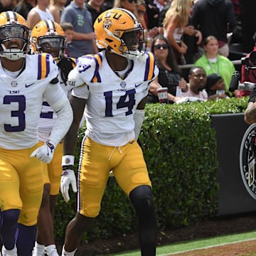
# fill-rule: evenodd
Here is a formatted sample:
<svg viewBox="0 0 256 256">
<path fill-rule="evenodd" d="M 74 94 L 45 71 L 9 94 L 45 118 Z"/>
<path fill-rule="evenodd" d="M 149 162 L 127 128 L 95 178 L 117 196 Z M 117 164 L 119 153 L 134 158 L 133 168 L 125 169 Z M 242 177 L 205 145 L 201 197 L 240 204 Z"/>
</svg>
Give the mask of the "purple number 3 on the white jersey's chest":
<svg viewBox="0 0 256 256">
<path fill-rule="evenodd" d="M 6 132 L 22 132 L 26 126 L 25 113 L 26 98 L 24 95 L 6 95 L 4 96 L 4 104 L 18 102 L 18 110 L 11 110 L 11 117 L 18 118 L 18 125 L 4 124 Z"/>
</svg>

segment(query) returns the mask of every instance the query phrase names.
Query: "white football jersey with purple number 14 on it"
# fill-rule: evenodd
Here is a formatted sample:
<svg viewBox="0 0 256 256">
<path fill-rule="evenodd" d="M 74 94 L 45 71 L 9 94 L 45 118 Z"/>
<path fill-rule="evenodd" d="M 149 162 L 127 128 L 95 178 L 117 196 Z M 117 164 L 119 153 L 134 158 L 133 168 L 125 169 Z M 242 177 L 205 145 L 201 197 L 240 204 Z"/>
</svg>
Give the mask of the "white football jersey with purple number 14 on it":
<svg viewBox="0 0 256 256">
<path fill-rule="evenodd" d="M 134 112 L 158 73 L 152 53 L 133 60 L 123 79 L 108 65 L 105 50 L 80 57 L 68 82 L 75 97 L 87 100 L 85 135 L 107 146 L 122 146 L 133 139 Z"/>
</svg>

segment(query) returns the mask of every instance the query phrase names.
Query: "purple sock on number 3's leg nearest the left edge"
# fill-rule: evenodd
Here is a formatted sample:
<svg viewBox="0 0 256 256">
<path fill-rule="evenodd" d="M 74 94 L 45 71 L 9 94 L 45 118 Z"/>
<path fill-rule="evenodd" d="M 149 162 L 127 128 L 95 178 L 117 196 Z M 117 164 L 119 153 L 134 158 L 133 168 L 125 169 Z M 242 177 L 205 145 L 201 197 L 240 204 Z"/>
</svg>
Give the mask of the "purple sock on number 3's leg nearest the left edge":
<svg viewBox="0 0 256 256">
<path fill-rule="evenodd" d="M 16 243 L 19 213 L 18 209 L 1 211 L 0 237 L 7 250 L 14 249 Z"/>
</svg>

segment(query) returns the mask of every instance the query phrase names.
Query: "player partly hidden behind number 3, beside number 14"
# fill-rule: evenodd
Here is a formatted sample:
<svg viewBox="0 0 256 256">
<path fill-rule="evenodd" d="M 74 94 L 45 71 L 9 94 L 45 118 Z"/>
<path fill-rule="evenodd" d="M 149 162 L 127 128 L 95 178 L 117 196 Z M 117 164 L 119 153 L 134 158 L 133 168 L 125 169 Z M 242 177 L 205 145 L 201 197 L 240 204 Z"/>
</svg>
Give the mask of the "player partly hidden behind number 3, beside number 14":
<svg viewBox="0 0 256 256">
<path fill-rule="evenodd" d="M 31 46 L 34 53 L 50 53 L 58 65 L 60 86 L 68 96 L 72 87 L 67 83 L 68 73 L 75 68 L 75 59 L 66 58 L 65 33 L 60 25 L 54 21 L 39 21 L 31 31 Z M 56 114 L 48 102 L 43 102 L 42 112 L 38 122 L 38 136 L 40 142 L 47 142 Z M 53 218 L 54 208 L 60 191 L 60 176 L 62 173 L 61 157 L 63 156 L 63 144 L 55 148 L 53 160 L 43 166 L 43 201 L 38 214 L 36 229 L 36 244 L 33 256 L 57 256 L 54 233 Z"/>
</svg>

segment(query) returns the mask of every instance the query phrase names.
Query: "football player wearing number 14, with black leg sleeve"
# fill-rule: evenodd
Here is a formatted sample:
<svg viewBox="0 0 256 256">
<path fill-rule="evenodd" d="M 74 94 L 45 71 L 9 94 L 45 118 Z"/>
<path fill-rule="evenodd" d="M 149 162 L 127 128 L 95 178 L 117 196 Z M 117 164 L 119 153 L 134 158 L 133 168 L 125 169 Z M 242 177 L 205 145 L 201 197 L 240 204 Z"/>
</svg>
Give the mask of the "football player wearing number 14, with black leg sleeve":
<svg viewBox="0 0 256 256">
<path fill-rule="evenodd" d="M 144 119 L 149 84 L 159 73 L 154 55 L 140 49 L 143 28 L 125 9 L 110 9 L 94 24 L 96 55 L 78 58 L 68 82 L 73 124 L 64 137 L 63 174 L 60 191 L 69 201 L 78 127 L 85 108 L 87 129 L 78 170 L 78 212 L 65 233 L 62 255 L 75 255 L 83 233 L 100 212 L 110 170 L 127 194 L 139 218 L 142 255 L 156 255 L 156 218 L 151 181 L 137 137 Z"/>
</svg>

